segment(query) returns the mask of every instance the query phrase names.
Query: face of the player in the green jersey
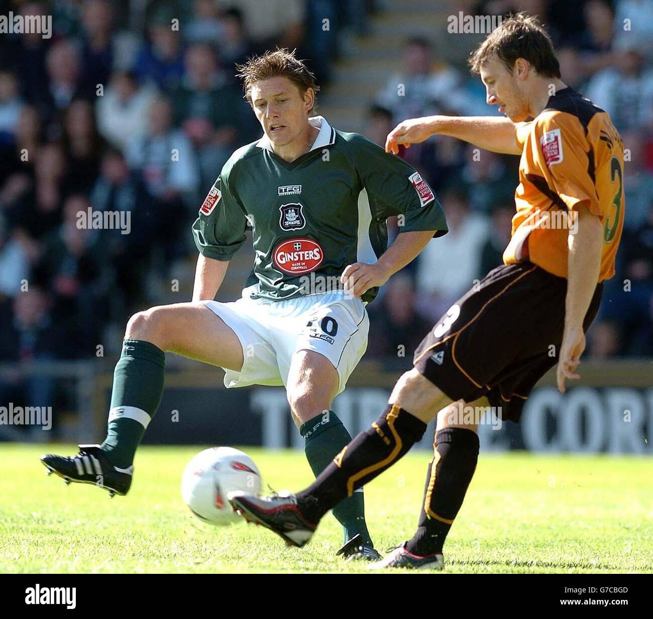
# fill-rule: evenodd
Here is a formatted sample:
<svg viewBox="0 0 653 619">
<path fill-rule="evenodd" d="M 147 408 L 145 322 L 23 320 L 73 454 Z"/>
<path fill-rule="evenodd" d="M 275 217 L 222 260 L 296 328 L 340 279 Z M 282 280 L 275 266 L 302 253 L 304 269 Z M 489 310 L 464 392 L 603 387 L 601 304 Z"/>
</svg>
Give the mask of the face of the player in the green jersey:
<svg viewBox="0 0 653 619">
<path fill-rule="evenodd" d="M 305 93 L 284 76 L 253 83 L 249 91 L 261 127 L 275 146 L 285 146 L 306 134 L 308 115 L 315 103 L 315 93 Z"/>
</svg>

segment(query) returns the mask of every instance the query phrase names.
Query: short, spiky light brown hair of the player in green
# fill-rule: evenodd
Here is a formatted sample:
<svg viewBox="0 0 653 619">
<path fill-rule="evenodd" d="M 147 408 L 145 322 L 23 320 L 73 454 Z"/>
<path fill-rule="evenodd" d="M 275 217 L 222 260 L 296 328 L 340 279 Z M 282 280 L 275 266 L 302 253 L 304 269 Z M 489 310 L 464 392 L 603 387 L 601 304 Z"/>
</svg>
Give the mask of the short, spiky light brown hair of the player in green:
<svg viewBox="0 0 653 619">
<path fill-rule="evenodd" d="M 314 93 L 319 91 L 320 87 L 315 83 L 315 76 L 306 67 L 304 61 L 295 57 L 295 52 L 296 50 L 291 52 L 286 48 L 282 48 L 274 50 L 274 52 L 265 52 L 262 55 L 252 56 L 242 65 L 236 65 L 238 70 L 236 76 L 243 82 L 243 91 L 249 104 L 251 104 L 249 93 L 254 82 L 277 76 L 288 78 L 298 87 L 302 95 L 309 88 L 313 89 Z"/>
</svg>

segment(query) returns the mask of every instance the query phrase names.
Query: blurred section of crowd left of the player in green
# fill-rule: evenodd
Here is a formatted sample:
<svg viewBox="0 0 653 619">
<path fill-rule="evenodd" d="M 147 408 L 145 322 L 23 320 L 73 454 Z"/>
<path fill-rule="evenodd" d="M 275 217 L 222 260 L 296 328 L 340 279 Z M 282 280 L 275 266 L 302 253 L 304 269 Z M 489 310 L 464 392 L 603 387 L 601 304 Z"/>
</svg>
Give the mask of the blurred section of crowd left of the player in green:
<svg viewBox="0 0 653 619">
<path fill-rule="evenodd" d="M 367 4 L 3 5 L 51 15 L 52 36 L 0 35 L 0 363 L 119 351 L 129 315 L 164 302 L 153 282 L 169 291 L 174 265 L 194 264 L 190 226 L 221 166 L 260 136 L 234 63 L 297 48 L 327 82 L 332 33 L 362 29 Z M 89 209 L 129 213 L 129 234 L 80 227 Z"/>
</svg>

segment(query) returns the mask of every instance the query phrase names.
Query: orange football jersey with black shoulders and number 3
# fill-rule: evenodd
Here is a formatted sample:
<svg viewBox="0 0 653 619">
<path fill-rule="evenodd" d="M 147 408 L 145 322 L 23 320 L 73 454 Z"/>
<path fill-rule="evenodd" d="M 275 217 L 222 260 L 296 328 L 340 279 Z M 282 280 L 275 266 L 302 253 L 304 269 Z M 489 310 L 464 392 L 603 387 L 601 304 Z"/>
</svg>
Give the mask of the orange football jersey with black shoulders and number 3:
<svg viewBox="0 0 653 619">
<path fill-rule="evenodd" d="M 567 277 L 567 236 L 582 202 L 603 224 L 599 282 L 614 275 L 624 226 L 624 144 L 609 115 L 567 87 L 516 126 L 522 149 L 517 214 L 503 262 L 530 260 Z"/>
</svg>

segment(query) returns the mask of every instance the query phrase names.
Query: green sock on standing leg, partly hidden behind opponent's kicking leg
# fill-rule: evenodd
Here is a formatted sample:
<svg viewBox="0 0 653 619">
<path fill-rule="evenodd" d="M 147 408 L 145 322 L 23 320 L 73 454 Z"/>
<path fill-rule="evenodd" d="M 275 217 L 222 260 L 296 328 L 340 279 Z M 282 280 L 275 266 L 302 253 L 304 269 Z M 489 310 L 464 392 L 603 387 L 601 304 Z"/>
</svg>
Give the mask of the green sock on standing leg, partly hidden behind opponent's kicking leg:
<svg viewBox="0 0 653 619">
<path fill-rule="evenodd" d="M 351 434 L 332 410 L 316 415 L 299 429 L 306 440 L 304 452 L 311 470 L 317 477 L 328 464 L 351 442 Z M 365 523 L 362 491 L 354 492 L 333 508 L 333 515 L 342 524 L 345 542 L 360 533 L 364 543 L 372 543 Z"/>
</svg>

